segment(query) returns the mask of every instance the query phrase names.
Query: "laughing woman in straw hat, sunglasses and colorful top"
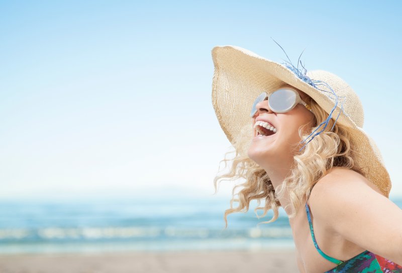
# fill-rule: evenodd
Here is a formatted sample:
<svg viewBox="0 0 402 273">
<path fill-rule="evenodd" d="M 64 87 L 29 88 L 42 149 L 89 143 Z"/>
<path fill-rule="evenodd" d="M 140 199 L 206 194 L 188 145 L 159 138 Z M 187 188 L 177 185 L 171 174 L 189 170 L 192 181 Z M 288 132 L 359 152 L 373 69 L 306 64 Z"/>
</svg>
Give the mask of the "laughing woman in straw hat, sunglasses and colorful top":
<svg viewBox="0 0 402 273">
<path fill-rule="evenodd" d="M 388 199 L 389 175 L 361 129 L 353 89 L 332 73 L 240 47 L 215 47 L 212 56 L 213 106 L 236 149 L 215 187 L 245 180 L 226 226 L 228 214 L 263 199 L 262 216 L 274 212 L 264 223 L 279 206 L 288 215 L 300 272 L 402 272 L 402 210 Z"/>
</svg>

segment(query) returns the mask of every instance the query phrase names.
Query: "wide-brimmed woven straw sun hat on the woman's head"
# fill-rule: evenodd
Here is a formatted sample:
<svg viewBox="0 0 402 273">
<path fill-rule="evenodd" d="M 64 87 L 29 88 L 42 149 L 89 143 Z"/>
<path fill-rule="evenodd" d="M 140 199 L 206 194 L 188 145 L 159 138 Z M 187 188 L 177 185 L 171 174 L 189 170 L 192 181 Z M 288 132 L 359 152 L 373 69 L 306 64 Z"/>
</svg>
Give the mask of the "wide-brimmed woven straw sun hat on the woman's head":
<svg viewBox="0 0 402 273">
<path fill-rule="evenodd" d="M 215 67 L 212 104 L 219 124 L 232 144 L 239 140 L 242 128 L 250 124 L 250 110 L 258 95 L 269 94 L 284 83 L 290 84 L 309 95 L 328 114 L 333 111 L 333 117 L 338 117 L 337 123 L 344 125 L 350 134 L 358 165 L 365 177 L 388 198 L 391 190 L 388 171 L 377 145 L 362 129 L 364 113 L 360 99 L 343 79 L 324 70 L 305 73 L 308 79 L 328 83 L 336 94 L 334 96 L 330 88 L 314 87 L 286 65 L 241 47 L 216 46 L 212 49 L 212 58 Z M 339 103 L 334 108 L 337 98 Z"/>
</svg>

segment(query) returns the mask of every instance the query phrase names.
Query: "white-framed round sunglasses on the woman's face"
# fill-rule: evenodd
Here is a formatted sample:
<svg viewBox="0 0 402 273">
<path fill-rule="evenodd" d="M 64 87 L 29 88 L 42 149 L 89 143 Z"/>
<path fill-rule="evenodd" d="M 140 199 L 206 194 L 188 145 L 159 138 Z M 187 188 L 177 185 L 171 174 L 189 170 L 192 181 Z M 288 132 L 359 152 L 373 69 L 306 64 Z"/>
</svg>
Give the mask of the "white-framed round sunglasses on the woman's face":
<svg viewBox="0 0 402 273">
<path fill-rule="evenodd" d="M 310 105 L 302 101 L 298 92 L 292 88 L 284 87 L 275 90 L 267 95 L 265 92 L 255 99 L 251 108 L 250 117 L 254 117 L 257 113 L 257 104 L 268 100 L 269 108 L 275 113 L 286 113 L 292 110 L 297 104 L 303 104 L 309 111 L 313 112 Z"/>
</svg>

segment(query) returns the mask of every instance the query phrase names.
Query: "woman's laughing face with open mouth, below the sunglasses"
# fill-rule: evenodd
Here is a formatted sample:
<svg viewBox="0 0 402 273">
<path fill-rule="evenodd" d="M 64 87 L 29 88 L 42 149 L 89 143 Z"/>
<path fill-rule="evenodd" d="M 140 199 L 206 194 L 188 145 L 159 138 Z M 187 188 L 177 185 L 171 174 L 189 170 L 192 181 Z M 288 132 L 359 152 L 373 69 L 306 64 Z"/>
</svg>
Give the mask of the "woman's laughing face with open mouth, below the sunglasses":
<svg viewBox="0 0 402 273">
<path fill-rule="evenodd" d="M 296 89 L 288 84 L 282 87 Z M 306 102 L 309 96 L 300 90 L 297 90 L 297 92 L 300 98 Z M 258 103 L 256 108 L 257 113 L 252 118 L 254 137 L 248 149 L 248 156 L 259 165 L 264 165 L 265 161 L 270 161 L 272 158 L 275 158 L 275 160 L 293 158 L 293 155 L 303 146 L 303 144 L 299 143 L 302 139 L 298 135 L 298 129 L 306 124 L 312 126 L 314 114 L 302 104 L 297 104 L 289 112 L 275 113 L 269 108 L 268 100 Z M 258 131 L 265 130 L 265 128 L 261 128 L 258 125 L 268 129 L 273 126 L 275 129 L 270 130 L 268 136 L 258 136 Z"/>
</svg>

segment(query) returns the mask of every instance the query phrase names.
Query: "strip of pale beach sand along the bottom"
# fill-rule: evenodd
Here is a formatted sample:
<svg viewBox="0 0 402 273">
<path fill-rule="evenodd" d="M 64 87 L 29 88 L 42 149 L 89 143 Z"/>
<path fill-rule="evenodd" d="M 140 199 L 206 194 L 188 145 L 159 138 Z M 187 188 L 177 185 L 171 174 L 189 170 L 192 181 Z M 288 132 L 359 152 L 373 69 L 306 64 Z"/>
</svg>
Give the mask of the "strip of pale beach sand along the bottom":
<svg viewBox="0 0 402 273">
<path fill-rule="evenodd" d="M 0 255 L 2 273 L 298 272 L 292 250 Z"/>
</svg>

